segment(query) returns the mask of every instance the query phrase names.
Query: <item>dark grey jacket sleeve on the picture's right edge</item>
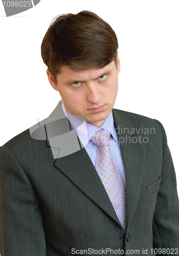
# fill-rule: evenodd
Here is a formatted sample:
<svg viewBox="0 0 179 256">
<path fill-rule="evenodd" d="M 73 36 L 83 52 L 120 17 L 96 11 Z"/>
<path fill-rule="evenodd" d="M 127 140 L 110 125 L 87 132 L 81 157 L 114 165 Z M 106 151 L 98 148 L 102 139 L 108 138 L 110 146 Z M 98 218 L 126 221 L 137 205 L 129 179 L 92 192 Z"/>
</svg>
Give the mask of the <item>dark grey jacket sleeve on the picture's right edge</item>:
<svg viewBox="0 0 179 256">
<path fill-rule="evenodd" d="M 162 180 L 153 217 L 153 248 L 156 255 L 179 255 L 179 202 L 176 176 L 167 138 L 163 133 Z M 154 254 L 154 252 L 153 252 Z"/>
</svg>

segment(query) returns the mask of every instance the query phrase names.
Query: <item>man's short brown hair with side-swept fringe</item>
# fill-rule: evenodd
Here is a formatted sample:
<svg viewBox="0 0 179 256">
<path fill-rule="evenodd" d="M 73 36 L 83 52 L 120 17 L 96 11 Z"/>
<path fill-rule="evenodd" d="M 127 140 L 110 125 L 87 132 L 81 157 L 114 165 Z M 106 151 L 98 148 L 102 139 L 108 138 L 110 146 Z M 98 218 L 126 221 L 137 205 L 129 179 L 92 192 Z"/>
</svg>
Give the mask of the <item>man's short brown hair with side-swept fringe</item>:
<svg viewBox="0 0 179 256">
<path fill-rule="evenodd" d="M 113 29 L 90 11 L 55 17 L 43 38 L 41 56 L 50 73 L 68 66 L 79 72 L 103 68 L 117 58 L 118 40 Z"/>
</svg>

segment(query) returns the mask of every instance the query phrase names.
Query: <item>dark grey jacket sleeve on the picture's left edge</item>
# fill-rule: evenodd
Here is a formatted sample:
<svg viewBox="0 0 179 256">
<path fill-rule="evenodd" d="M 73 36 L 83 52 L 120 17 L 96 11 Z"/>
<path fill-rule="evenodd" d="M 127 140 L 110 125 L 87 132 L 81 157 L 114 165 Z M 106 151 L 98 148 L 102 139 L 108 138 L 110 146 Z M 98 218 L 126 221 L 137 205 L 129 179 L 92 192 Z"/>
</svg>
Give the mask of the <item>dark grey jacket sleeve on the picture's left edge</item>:
<svg viewBox="0 0 179 256">
<path fill-rule="evenodd" d="M 42 217 L 31 183 L 7 146 L 0 148 L 1 256 L 46 256 Z"/>
</svg>

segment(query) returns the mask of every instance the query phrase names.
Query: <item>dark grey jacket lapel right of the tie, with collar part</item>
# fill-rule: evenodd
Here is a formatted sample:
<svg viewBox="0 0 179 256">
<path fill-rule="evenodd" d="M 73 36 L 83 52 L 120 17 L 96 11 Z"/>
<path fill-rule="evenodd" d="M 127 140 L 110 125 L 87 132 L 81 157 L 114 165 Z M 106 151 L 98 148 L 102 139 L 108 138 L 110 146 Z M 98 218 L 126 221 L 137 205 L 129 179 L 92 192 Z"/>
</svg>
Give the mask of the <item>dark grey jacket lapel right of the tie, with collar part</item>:
<svg viewBox="0 0 179 256">
<path fill-rule="evenodd" d="M 131 124 L 119 113 L 119 111 L 113 110 L 114 116 L 114 123 L 117 131 L 120 131 L 120 127 L 124 131 L 132 131 L 134 130 Z M 127 130 L 128 129 L 128 130 Z M 144 161 L 145 161 L 145 150 L 146 147 L 144 143 L 133 143 L 132 138 L 134 137 L 135 132 L 128 133 L 126 139 L 124 134 L 118 133 L 118 138 L 121 139 L 120 147 L 122 153 L 122 159 L 124 164 L 125 170 L 125 179 L 126 179 L 126 219 L 127 219 L 127 226 L 130 224 L 132 216 L 136 210 L 141 183 L 143 178 L 143 169 L 144 169 Z M 134 140 L 136 141 L 136 140 Z"/>
</svg>

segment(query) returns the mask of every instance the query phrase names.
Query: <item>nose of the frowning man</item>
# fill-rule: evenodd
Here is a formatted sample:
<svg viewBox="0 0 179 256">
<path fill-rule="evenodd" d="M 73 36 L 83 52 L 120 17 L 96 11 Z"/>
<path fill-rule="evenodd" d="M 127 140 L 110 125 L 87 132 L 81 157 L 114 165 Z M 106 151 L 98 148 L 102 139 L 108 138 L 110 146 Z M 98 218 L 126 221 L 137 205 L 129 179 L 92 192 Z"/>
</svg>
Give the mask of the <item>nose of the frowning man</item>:
<svg viewBox="0 0 179 256">
<path fill-rule="evenodd" d="M 92 103 L 98 103 L 101 100 L 100 86 L 98 83 L 91 82 L 87 84 L 87 100 Z"/>
</svg>

